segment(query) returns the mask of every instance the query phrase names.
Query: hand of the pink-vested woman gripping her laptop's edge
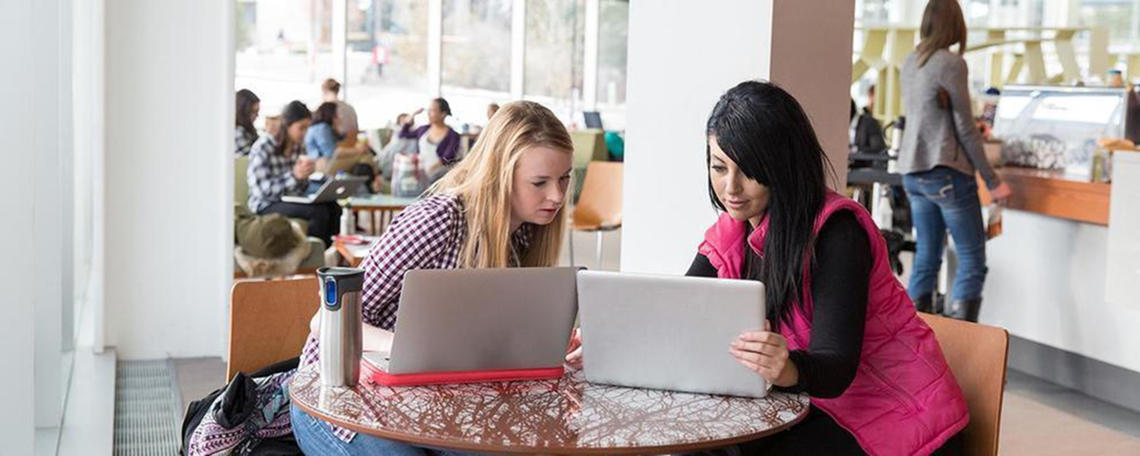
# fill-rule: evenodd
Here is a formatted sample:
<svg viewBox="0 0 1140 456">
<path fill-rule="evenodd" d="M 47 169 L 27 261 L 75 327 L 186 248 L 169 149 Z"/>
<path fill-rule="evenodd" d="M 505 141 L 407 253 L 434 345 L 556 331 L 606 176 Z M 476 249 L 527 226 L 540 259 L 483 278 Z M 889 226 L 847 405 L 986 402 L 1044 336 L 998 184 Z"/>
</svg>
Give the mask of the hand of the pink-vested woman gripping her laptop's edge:
<svg viewBox="0 0 1140 456">
<path fill-rule="evenodd" d="M 799 370 L 788 357 L 788 341 L 772 332 L 764 321 L 764 331 L 746 331 L 732 341 L 728 352 L 740 364 L 759 374 L 776 386 L 791 386 L 799 381 Z"/>
</svg>

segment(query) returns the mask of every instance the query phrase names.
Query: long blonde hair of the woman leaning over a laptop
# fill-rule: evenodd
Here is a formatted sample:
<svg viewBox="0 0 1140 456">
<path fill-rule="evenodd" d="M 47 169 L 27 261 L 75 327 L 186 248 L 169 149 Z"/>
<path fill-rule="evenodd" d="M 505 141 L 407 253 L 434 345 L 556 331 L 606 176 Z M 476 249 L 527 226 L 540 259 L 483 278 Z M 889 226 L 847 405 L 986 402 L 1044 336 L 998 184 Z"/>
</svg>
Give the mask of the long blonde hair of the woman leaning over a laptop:
<svg viewBox="0 0 1140 456">
<path fill-rule="evenodd" d="M 573 154 L 573 142 L 551 109 L 534 101 L 504 105 L 467 155 L 427 189 L 430 195 L 454 195 L 463 203 L 467 236 L 459 249 L 464 268 L 506 268 L 511 264 L 511 193 L 514 168 L 527 148 L 543 146 Z M 567 195 L 572 195 L 567 189 Z M 554 221 L 532 227 L 523 267 L 554 266 L 567 223 L 565 204 Z"/>
</svg>

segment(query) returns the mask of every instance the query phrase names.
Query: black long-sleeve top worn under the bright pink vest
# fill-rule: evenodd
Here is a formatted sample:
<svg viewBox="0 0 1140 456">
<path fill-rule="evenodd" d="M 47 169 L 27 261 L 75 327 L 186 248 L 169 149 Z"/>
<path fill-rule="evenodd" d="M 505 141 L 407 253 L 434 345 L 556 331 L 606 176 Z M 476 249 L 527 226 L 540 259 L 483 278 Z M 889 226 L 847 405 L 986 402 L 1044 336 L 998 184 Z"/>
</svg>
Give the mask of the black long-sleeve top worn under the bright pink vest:
<svg viewBox="0 0 1140 456">
<path fill-rule="evenodd" d="M 754 264 L 760 263 L 751 249 L 748 254 Z M 698 253 L 686 275 L 716 277 L 716 268 Z M 758 271 L 750 278 L 757 279 Z M 789 352 L 789 359 L 799 370 L 799 381 L 783 390 L 834 398 L 855 380 L 863 349 L 870 278 L 871 242 L 866 231 L 853 213 L 833 214 L 815 241 L 812 341 L 807 350 Z M 768 306 L 767 318 L 776 327 L 772 306 Z"/>
</svg>

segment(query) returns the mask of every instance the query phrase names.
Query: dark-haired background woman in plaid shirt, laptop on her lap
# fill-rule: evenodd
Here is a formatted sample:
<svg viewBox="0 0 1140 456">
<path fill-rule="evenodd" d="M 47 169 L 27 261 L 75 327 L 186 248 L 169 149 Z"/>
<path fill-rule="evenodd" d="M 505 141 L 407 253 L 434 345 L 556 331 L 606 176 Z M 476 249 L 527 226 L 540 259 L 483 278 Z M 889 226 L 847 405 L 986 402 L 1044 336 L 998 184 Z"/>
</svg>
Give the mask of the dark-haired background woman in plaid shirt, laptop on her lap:
<svg viewBox="0 0 1140 456">
<path fill-rule="evenodd" d="M 309 187 L 309 176 L 316 164 L 304 155 L 304 133 L 312 122 L 309 108 L 301 101 L 291 101 L 282 111 L 277 135 L 263 135 L 250 150 L 250 210 L 258 214 L 279 213 L 304 219 L 308 234 L 332 245 L 332 237 L 340 230 L 341 209 L 336 203 L 284 203 L 284 195 L 301 195 Z"/>
</svg>

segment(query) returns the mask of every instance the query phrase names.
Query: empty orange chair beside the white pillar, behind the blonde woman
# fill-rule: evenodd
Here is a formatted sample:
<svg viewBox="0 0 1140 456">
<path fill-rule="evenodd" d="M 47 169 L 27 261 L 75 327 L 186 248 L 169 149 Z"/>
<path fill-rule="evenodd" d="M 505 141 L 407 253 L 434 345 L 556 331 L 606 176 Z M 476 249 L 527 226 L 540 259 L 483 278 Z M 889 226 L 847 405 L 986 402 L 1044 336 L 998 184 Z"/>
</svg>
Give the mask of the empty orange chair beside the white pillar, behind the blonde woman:
<svg viewBox="0 0 1140 456">
<path fill-rule="evenodd" d="M 621 228 L 621 163 L 589 162 L 581 196 L 570 220 L 570 266 L 573 261 L 575 231 L 597 235 L 597 267 L 602 266 L 602 233 Z"/>
</svg>

